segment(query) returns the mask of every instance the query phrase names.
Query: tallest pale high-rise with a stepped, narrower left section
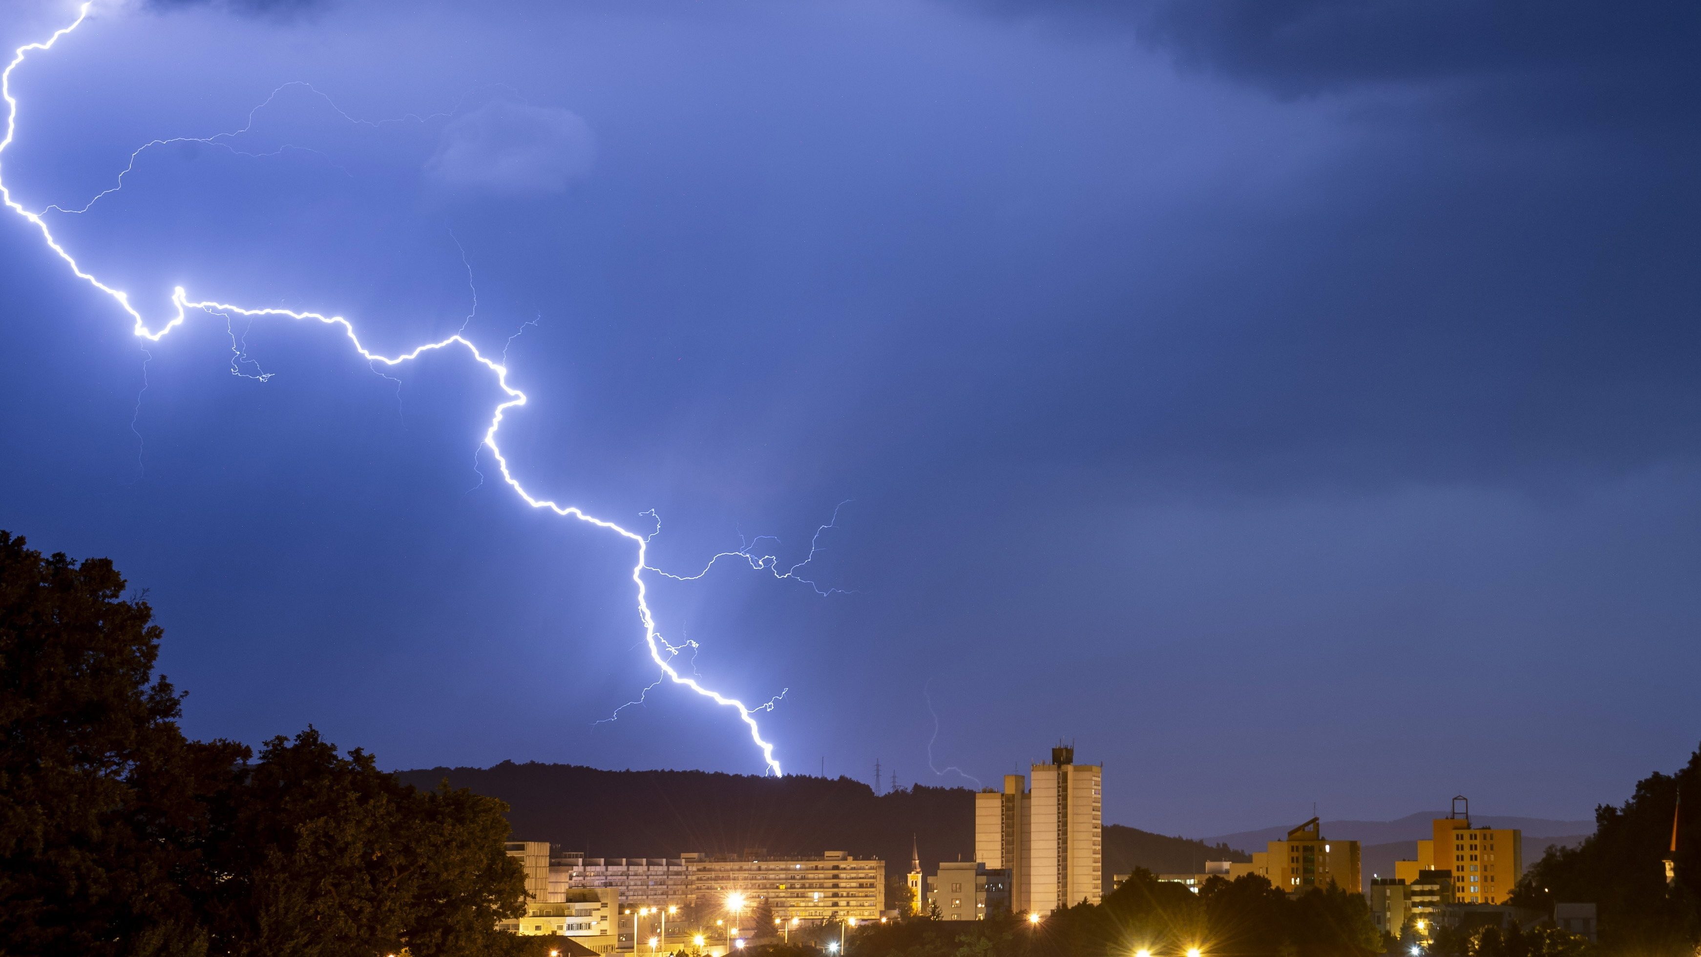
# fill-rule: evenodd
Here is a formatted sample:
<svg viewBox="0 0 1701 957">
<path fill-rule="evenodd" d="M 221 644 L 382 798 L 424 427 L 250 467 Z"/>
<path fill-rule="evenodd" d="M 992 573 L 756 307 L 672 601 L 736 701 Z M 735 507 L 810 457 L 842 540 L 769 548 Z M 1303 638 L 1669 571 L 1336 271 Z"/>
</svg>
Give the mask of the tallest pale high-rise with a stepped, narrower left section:
<svg viewBox="0 0 1701 957">
<path fill-rule="evenodd" d="M 975 860 L 1010 872 L 1010 906 L 1050 913 L 1104 897 L 1104 768 L 1051 749 L 1033 787 L 1007 775 L 1004 790 L 975 795 Z"/>
</svg>

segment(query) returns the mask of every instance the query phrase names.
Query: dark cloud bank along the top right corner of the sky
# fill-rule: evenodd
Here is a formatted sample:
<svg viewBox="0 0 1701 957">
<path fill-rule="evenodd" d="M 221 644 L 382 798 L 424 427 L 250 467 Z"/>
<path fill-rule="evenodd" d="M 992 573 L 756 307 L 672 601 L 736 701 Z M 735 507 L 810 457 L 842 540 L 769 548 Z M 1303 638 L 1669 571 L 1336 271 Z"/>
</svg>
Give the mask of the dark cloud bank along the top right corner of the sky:
<svg viewBox="0 0 1701 957">
<path fill-rule="evenodd" d="M 1308 95 L 1459 83 L 1468 102 L 1684 121 L 1701 5 L 1577 0 L 988 0 L 1005 15 L 1112 24 L 1177 63 Z"/>
</svg>

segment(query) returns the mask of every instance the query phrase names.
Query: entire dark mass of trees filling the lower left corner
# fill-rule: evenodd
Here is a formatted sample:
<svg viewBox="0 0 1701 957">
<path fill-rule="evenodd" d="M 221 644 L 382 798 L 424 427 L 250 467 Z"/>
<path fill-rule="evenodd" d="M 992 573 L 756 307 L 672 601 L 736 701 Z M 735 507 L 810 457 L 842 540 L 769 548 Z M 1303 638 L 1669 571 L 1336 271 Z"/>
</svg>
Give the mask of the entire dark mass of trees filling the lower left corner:
<svg viewBox="0 0 1701 957">
<path fill-rule="evenodd" d="M 502 802 L 308 729 L 189 741 L 104 559 L 0 531 L 0 957 L 519 954 Z"/>
</svg>

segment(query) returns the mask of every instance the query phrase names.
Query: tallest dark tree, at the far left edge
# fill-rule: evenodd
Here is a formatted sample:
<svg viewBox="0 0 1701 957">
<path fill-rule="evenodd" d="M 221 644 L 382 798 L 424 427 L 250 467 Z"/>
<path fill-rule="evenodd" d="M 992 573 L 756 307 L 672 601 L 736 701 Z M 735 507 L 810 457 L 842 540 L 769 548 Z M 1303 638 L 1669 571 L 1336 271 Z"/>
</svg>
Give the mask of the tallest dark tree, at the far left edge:
<svg viewBox="0 0 1701 957">
<path fill-rule="evenodd" d="M 122 593 L 105 559 L 0 531 L 0 954 L 206 945 L 182 885 L 194 841 L 174 838 L 202 828 L 185 788 L 242 749 L 184 741 L 160 628 Z"/>
</svg>

